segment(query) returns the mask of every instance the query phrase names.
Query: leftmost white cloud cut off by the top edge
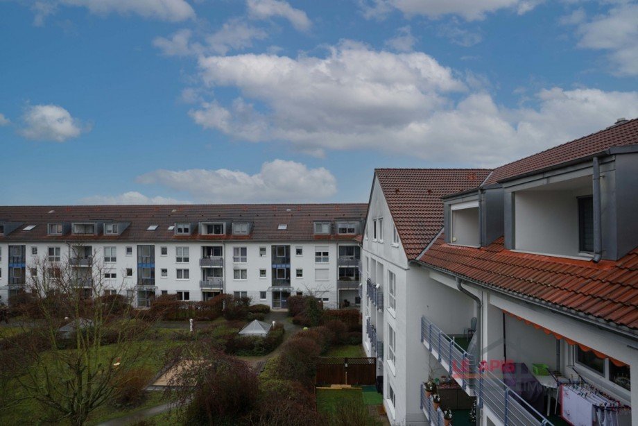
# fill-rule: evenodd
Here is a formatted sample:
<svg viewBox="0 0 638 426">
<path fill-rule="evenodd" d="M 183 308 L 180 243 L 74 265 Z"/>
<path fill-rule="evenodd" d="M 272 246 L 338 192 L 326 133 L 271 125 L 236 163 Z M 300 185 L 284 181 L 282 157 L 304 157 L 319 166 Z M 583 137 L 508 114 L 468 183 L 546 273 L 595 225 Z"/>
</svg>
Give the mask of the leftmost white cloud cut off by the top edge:
<svg viewBox="0 0 638 426">
<path fill-rule="evenodd" d="M 195 17 L 195 10 L 185 0 L 60 0 L 65 6 L 88 8 L 96 15 L 117 12 L 135 14 L 147 19 L 180 22 Z"/>
</svg>

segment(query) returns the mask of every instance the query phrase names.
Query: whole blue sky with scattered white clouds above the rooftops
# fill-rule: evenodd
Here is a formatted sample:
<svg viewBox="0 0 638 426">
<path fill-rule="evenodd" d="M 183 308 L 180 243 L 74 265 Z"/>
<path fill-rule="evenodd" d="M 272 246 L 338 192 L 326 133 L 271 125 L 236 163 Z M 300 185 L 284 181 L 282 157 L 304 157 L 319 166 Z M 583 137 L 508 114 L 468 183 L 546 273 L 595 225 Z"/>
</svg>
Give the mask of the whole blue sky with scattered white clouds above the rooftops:
<svg viewBox="0 0 638 426">
<path fill-rule="evenodd" d="M 638 117 L 638 3 L 0 0 L 5 204 L 365 202 Z"/>
</svg>

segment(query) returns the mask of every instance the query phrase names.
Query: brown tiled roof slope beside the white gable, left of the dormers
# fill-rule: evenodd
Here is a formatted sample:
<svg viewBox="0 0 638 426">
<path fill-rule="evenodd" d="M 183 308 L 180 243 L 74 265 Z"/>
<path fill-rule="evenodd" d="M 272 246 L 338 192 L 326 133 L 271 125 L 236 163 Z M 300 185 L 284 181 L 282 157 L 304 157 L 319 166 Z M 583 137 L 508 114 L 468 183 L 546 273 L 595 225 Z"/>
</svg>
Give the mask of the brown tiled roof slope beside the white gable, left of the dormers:
<svg viewBox="0 0 638 426">
<path fill-rule="evenodd" d="M 485 169 L 376 169 L 408 259 L 415 259 L 443 227 L 441 197 L 478 187 Z"/>
</svg>

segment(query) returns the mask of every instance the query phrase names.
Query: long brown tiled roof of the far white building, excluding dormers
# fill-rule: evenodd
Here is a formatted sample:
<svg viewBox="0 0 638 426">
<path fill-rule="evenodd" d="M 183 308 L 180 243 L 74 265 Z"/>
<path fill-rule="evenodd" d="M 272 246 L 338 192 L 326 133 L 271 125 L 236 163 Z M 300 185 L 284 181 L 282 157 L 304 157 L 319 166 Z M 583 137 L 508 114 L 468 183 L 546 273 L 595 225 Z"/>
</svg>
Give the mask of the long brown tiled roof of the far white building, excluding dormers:
<svg viewBox="0 0 638 426">
<path fill-rule="evenodd" d="M 0 206 L 0 223 L 15 222 L 21 226 L 0 241 L 69 241 L 96 239 L 115 241 L 170 241 L 195 239 L 200 241 L 218 239 L 248 239 L 258 241 L 298 240 L 352 241 L 352 235 L 337 235 L 335 221 L 356 219 L 363 221 L 367 204 L 242 204 L 242 205 L 74 205 L 74 206 Z M 49 213 L 51 212 L 51 213 Z M 129 222 L 130 225 L 119 236 L 78 236 L 67 232 L 62 236 L 46 234 L 47 223 L 73 222 Z M 198 223 L 208 221 L 234 221 L 252 223 L 248 236 L 199 235 L 197 227 L 189 236 L 175 236 L 169 226 L 175 223 Z M 314 221 L 329 221 L 331 235 L 314 235 Z M 286 230 L 277 230 L 286 224 Z M 25 231 L 26 225 L 36 225 Z M 157 230 L 146 230 L 149 225 L 158 225 Z"/>
</svg>

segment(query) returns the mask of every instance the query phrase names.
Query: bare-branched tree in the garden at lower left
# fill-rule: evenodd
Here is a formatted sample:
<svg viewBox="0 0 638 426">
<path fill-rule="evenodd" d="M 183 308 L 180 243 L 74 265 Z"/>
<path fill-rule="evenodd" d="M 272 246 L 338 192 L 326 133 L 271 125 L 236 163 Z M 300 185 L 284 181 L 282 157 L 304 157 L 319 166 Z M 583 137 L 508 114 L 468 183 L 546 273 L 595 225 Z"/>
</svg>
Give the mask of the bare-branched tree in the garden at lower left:
<svg viewBox="0 0 638 426">
<path fill-rule="evenodd" d="M 17 377 L 46 419 L 82 425 L 132 377 L 128 370 L 144 351 L 148 325 L 136 321 L 123 279 L 82 246 L 71 255 L 42 257 L 31 266 L 24 306 L 28 339 L 15 345 L 30 364 Z M 123 278 L 124 274 L 122 274 Z"/>
</svg>

